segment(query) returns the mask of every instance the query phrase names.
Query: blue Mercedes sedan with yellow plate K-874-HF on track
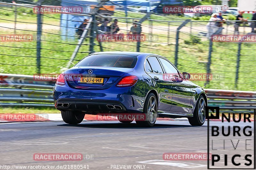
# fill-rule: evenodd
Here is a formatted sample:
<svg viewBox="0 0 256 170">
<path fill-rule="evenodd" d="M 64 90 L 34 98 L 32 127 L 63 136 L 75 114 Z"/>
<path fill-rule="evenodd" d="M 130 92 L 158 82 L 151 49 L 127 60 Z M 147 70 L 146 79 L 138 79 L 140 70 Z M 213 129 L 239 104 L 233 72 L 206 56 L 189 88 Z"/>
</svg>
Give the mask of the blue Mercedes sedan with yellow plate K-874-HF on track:
<svg viewBox="0 0 256 170">
<path fill-rule="evenodd" d="M 85 114 L 139 114 L 118 119 L 152 127 L 157 117 L 205 122 L 206 94 L 166 58 L 139 52 L 96 52 L 61 73 L 54 87 L 55 107 L 64 122 L 81 123 Z"/>
</svg>

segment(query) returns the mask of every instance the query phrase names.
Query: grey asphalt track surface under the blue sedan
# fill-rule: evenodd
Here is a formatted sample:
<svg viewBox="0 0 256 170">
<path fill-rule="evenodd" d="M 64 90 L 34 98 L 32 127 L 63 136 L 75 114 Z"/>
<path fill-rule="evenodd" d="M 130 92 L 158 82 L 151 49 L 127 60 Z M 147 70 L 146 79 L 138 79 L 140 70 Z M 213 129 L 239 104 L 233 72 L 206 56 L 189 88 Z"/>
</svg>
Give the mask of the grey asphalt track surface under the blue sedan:
<svg viewBox="0 0 256 170">
<path fill-rule="evenodd" d="M 86 165 L 91 170 L 108 170 L 131 165 L 130 169 L 207 169 L 205 160 L 163 160 L 163 153 L 207 153 L 207 123 L 197 127 L 188 121 L 157 121 L 152 128 L 141 128 L 134 122 L 117 121 L 79 125 L 14 122 L 0 123 L 0 137 L 0 165 L 11 167 Z M 83 160 L 36 161 L 35 153 L 81 153 Z"/>
</svg>

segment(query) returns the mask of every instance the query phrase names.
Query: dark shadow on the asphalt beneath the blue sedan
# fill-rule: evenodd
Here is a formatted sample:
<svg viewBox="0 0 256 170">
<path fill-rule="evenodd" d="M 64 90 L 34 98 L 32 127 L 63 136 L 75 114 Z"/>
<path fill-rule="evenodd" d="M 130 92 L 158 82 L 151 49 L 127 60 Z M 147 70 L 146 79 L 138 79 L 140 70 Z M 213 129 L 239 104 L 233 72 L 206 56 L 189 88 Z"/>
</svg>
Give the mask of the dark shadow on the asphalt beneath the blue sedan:
<svg viewBox="0 0 256 170">
<path fill-rule="evenodd" d="M 188 128 L 188 127 L 200 127 L 191 125 L 170 125 L 170 124 L 155 124 L 153 127 L 141 127 L 136 123 L 86 123 L 86 124 L 60 124 L 57 126 L 67 126 L 67 127 L 81 127 L 81 128 L 107 128 L 107 129 L 163 129 L 163 128 Z"/>
</svg>

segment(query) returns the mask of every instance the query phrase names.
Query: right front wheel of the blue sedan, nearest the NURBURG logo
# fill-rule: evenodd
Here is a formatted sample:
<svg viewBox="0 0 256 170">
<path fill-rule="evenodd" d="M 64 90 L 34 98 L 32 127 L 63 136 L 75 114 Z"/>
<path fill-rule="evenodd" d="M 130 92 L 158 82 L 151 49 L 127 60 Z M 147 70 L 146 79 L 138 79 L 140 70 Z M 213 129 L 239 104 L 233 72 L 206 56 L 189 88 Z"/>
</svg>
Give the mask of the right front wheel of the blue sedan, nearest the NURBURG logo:
<svg viewBox="0 0 256 170">
<path fill-rule="evenodd" d="M 201 102 L 202 100 L 204 101 L 204 109 L 203 110 L 201 109 L 201 111 L 199 111 L 198 107 L 202 106 L 202 102 Z M 204 122 L 205 122 L 205 107 L 206 107 L 206 101 L 205 101 L 204 97 L 199 96 L 197 103 L 196 103 L 194 113 L 193 113 L 193 117 L 188 118 L 188 122 L 192 126 L 202 126 L 204 124 Z"/>
</svg>

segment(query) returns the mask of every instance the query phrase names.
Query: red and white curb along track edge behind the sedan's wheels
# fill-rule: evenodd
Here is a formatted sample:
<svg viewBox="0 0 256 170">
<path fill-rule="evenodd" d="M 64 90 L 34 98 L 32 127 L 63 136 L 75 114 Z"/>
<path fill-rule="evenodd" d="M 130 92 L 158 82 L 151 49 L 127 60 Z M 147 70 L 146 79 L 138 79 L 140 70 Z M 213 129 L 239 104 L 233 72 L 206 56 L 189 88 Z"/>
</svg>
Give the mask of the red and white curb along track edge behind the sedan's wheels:
<svg viewBox="0 0 256 170">
<path fill-rule="evenodd" d="M 158 121 L 187 121 L 187 118 L 157 118 Z M 4 122 L 54 122 L 63 121 L 61 114 L 0 114 L 0 123 Z M 83 121 L 118 121 L 116 116 L 85 115 Z"/>
</svg>

